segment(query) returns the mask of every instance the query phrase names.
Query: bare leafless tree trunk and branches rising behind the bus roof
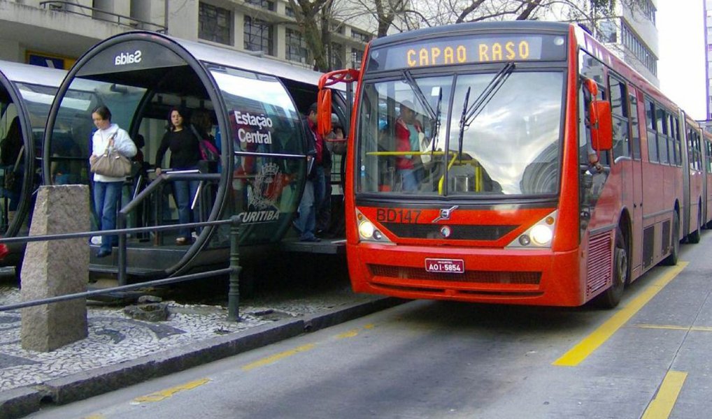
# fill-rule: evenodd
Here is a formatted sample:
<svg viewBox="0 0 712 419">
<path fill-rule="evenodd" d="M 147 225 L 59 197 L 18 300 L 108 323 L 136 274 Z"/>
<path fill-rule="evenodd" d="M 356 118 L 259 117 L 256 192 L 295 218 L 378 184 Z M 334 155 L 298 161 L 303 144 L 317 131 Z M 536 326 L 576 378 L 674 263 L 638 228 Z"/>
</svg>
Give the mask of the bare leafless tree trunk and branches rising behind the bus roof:
<svg viewBox="0 0 712 419">
<path fill-rule="evenodd" d="M 314 58 L 315 70 L 330 68 L 330 37 L 349 23 L 382 37 L 451 23 L 546 19 L 577 21 L 593 33 L 613 16 L 617 3 L 631 11 L 649 0 L 289 0 Z M 604 28 L 605 31 L 605 28 Z"/>
</svg>

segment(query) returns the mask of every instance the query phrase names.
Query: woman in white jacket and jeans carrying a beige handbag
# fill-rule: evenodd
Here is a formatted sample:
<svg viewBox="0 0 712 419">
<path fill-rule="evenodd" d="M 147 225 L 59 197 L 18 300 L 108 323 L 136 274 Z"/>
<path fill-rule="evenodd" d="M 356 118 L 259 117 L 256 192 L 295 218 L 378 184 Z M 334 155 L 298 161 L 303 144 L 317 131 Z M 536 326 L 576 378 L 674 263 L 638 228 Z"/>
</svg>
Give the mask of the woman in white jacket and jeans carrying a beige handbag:
<svg viewBox="0 0 712 419">
<path fill-rule="evenodd" d="M 99 220 L 100 230 L 113 230 L 116 228 L 116 210 L 121 198 L 121 188 L 126 181 L 126 176 L 108 176 L 99 174 L 94 166 L 103 155 L 110 156 L 117 152 L 123 157 L 133 157 L 136 154 L 136 145 L 129 134 L 111 122 L 111 112 L 108 107 L 97 107 L 91 114 L 97 130 L 92 137 L 92 155 L 89 159 L 94 173 L 94 208 Z M 96 254 L 97 258 L 104 258 L 111 254 L 111 246 L 117 236 L 104 235 L 101 238 L 101 247 Z"/>
</svg>

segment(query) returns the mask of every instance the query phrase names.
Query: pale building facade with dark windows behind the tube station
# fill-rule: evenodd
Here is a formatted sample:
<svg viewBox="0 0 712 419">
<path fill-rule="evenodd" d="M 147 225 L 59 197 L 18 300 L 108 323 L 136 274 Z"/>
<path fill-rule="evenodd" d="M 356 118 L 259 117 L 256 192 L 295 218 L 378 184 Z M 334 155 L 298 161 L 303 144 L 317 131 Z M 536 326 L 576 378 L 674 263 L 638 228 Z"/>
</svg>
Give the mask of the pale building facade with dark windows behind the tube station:
<svg viewBox="0 0 712 419">
<path fill-rule="evenodd" d="M 313 67 L 285 0 L 0 0 L 0 59 L 68 69 L 91 46 L 145 29 Z M 360 65 L 372 35 L 336 23 L 332 68 Z"/>
</svg>

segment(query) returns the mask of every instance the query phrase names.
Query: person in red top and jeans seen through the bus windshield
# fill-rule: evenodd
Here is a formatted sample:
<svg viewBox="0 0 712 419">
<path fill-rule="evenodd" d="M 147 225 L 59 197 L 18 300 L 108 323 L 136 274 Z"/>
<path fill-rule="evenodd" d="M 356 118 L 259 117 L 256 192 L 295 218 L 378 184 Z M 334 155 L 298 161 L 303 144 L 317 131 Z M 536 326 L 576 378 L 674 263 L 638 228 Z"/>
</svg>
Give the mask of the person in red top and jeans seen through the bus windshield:
<svg viewBox="0 0 712 419">
<path fill-rule="evenodd" d="M 403 100 L 400 115 L 396 120 L 395 136 L 397 152 L 419 152 L 423 127 L 415 117 L 413 102 Z M 396 170 L 403 191 L 417 191 L 423 177 L 422 162 L 417 154 L 403 154 L 396 158 Z"/>
</svg>

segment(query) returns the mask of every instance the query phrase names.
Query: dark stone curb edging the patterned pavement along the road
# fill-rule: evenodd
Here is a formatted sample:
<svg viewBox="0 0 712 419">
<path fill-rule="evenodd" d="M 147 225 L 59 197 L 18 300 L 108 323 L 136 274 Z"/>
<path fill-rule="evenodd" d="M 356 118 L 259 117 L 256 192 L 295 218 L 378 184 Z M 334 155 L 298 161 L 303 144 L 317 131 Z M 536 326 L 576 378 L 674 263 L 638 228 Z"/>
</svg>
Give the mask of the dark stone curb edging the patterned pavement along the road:
<svg viewBox="0 0 712 419">
<path fill-rule="evenodd" d="M 377 298 L 328 312 L 309 314 L 300 319 L 281 320 L 236 334 L 216 336 L 180 348 L 142 356 L 132 361 L 54 378 L 35 386 L 3 391 L 0 392 L 0 419 L 21 418 L 40 410 L 41 405 L 47 403 L 56 405 L 72 403 L 151 378 L 167 376 L 300 334 L 357 319 L 403 302 L 405 300 L 392 297 Z"/>
</svg>

